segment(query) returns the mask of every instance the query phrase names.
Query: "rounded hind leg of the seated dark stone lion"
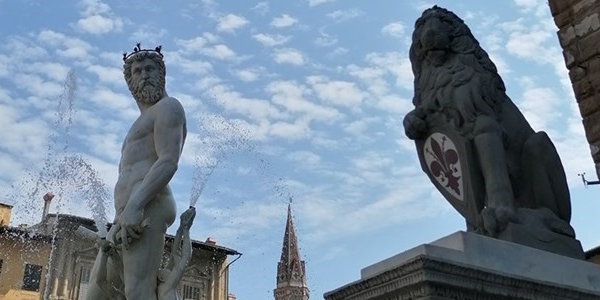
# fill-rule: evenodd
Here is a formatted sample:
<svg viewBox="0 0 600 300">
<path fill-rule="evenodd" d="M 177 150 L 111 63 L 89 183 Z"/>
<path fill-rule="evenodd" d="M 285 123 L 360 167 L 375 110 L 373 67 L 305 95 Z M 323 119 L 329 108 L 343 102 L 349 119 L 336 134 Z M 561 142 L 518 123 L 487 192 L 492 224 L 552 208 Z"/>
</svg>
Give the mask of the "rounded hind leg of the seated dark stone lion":
<svg viewBox="0 0 600 300">
<path fill-rule="evenodd" d="M 524 194 L 529 208 L 546 207 L 565 222 L 571 220 L 571 199 L 565 171 L 556 148 L 545 132 L 531 135 L 523 146 Z"/>
</svg>

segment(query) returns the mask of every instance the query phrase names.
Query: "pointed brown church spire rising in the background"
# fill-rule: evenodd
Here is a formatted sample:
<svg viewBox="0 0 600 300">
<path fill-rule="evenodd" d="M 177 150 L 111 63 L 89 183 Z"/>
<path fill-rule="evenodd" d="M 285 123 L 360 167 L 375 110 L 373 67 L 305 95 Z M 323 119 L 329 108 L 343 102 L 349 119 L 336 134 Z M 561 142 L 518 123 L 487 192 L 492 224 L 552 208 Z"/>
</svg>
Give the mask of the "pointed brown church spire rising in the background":
<svg viewBox="0 0 600 300">
<path fill-rule="evenodd" d="M 300 259 L 298 239 L 292 220 L 292 199 L 288 204 L 287 222 L 283 235 L 281 258 L 277 263 L 277 288 L 275 300 L 308 300 L 306 271 L 304 261 Z"/>
</svg>

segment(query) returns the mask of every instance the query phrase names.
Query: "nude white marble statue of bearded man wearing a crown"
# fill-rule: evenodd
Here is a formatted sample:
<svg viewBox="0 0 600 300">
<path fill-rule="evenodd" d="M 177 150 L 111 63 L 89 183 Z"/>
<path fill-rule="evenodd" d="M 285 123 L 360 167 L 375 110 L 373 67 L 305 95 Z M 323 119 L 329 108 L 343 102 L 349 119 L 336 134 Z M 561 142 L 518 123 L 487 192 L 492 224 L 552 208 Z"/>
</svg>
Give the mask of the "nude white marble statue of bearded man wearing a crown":
<svg viewBox="0 0 600 300">
<path fill-rule="evenodd" d="M 157 278 L 167 228 L 176 215 L 169 181 L 186 137 L 183 107 L 165 92 L 160 47 L 124 55 L 125 80 L 140 109 L 125 137 L 115 186 L 114 225 L 107 240 L 121 244 L 122 268 L 107 263 L 107 281 L 123 286 L 128 300 L 157 299 Z M 111 299 L 96 284 L 101 255 L 92 270 L 88 299 Z M 122 272 L 118 272 L 118 270 Z"/>
</svg>

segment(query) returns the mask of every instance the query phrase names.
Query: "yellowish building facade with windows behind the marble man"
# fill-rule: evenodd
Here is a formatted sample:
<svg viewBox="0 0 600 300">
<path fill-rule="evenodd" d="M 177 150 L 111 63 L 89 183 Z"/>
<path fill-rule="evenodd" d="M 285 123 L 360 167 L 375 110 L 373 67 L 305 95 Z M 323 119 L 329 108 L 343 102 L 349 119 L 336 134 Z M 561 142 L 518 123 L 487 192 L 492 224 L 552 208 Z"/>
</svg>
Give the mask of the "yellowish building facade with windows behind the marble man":
<svg viewBox="0 0 600 300">
<path fill-rule="evenodd" d="M 0 226 L 0 300 L 85 299 L 98 253 L 89 235 L 95 231 L 93 220 L 65 214 L 47 214 L 30 227 Z M 165 239 L 166 258 L 174 238 Z M 227 300 L 229 255 L 240 254 L 210 240 L 192 241 L 182 299 Z"/>
</svg>

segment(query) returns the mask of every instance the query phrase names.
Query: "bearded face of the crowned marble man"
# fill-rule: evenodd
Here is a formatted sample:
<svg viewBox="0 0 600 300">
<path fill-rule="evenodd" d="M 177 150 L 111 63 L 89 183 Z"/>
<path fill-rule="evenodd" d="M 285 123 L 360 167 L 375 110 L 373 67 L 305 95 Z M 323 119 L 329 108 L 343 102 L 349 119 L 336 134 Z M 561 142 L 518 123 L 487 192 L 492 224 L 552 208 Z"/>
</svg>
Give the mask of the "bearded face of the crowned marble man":
<svg viewBox="0 0 600 300">
<path fill-rule="evenodd" d="M 152 59 L 131 63 L 129 90 L 137 102 L 154 104 L 165 95 L 165 77 Z"/>
</svg>

